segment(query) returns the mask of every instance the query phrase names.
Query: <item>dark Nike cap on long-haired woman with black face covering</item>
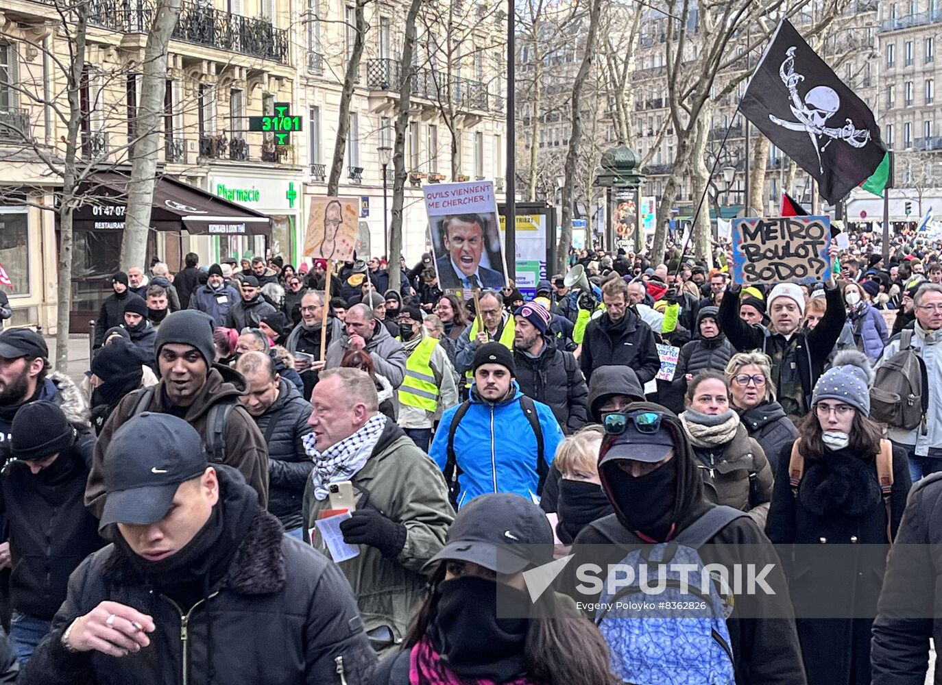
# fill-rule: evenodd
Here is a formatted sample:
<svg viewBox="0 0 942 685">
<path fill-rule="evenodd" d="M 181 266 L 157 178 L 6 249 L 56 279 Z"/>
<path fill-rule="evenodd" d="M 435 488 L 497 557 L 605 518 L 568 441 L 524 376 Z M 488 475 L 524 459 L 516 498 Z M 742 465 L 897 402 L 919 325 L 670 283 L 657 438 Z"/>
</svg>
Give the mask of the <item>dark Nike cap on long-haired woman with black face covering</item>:
<svg viewBox="0 0 942 685">
<path fill-rule="evenodd" d="M 458 511 L 445 547 L 423 570 L 430 573 L 448 560 L 519 573 L 553 561 L 553 529 L 543 509 L 520 495 L 480 495 Z"/>
</svg>

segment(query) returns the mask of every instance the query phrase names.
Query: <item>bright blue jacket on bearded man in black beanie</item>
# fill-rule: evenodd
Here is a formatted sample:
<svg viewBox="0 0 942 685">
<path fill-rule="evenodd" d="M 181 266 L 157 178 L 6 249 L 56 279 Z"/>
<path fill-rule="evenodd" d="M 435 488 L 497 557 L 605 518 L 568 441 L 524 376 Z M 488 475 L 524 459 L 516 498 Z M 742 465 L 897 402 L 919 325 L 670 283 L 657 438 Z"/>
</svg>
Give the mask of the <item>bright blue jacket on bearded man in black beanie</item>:
<svg viewBox="0 0 942 685">
<path fill-rule="evenodd" d="M 491 492 L 513 492 L 536 499 L 537 442 L 520 407 L 522 396 L 523 392 L 513 381 L 512 398 L 491 405 L 482 402 L 475 386 L 471 386 L 471 406 L 455 432 L 455 458 L 463 471 L 458 479 L 459 506 Z M 544 460 L 549 465 L 562 440 L 560 423 L 548 406 L 536 401 L 533 404 L 543 428 Z M 448 430 L 459 406 L 452 406 L 442 414 L 431 443 L 429 454 L 442 470 L 448 460 Z"/>
</svg>

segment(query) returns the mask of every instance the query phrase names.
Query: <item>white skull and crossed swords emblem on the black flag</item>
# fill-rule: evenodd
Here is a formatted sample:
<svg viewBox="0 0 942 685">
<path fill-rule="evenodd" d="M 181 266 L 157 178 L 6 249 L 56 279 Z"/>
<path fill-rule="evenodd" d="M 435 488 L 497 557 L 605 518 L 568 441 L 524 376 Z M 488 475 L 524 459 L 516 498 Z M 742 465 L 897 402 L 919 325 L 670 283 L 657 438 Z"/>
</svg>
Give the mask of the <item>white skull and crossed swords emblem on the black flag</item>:
<svg viewBox="0 0 942 685">
<path fill-rule="evenodd" d="M 847 123 L 840 127 L 825 125 L 827 120 L 831 119 L 840 108 L 840 98 L 834 88 L 816 86 L 804 94 L 804 100 L 799 95 L 798 84 L 804 81 L 804 75 L 795 72 L 794 47 L 790 47 L 786 51 L 785 61 L 779 67 L 778 75 L 782 79 L 782 83 L 788 88 L 788 95 L 791 99 L 788 106 L 798 121 L 780 119 L 771 114 L 769 119 L 772 123 L 787 128 L 789 131 L 801 131 L 811 137 L 811 143 L 815 146 L 815 153 L 818 155 L 818 166 L 821 173 L 824 173 L 821 152 L 827 150 L 827 146 L 833 141 L 843 140 L 854 148 L 862 148 L 867 145 L 870 132 L 867 129 L 856 128 L 851 119 L 846 119 Z M 821 144 L 821 138 L 828 139 Z"/>
</svg>

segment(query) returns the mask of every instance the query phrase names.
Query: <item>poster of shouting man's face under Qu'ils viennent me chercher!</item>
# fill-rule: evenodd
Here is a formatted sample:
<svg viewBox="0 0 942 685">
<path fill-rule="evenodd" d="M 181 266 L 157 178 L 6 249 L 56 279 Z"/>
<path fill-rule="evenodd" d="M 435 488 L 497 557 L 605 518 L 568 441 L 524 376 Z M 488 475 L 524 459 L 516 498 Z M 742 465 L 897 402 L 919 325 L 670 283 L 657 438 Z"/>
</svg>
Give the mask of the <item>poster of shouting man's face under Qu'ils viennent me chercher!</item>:
<svg viewBox="0 0 942 685">
<path fill-rule="evenodd" d="M 435 183 L 423 188 L 438 287 L 499 289 L 507 283 L 494 183 Z"/>
</svg>

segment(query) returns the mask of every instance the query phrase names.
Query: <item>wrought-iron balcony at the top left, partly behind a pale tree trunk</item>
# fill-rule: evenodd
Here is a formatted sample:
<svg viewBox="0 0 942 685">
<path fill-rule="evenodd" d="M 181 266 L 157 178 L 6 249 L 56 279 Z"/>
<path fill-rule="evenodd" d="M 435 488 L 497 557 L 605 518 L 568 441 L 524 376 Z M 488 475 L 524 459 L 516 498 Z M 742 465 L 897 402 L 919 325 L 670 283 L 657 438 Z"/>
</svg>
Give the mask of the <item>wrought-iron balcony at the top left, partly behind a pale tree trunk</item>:
<svg viewBox="0 0 942 685">
<path fill-rule="evenodd" d="M 89 24 L 122 33 L 147 33 L 155 6 L 155 0 L 91 0 Z M 183 2 L 171 38 L 288 63 L 288 32 L 283 28 L 276 28 L 266 19 L 243 17 L 193 2 Z"/>
</svg>

